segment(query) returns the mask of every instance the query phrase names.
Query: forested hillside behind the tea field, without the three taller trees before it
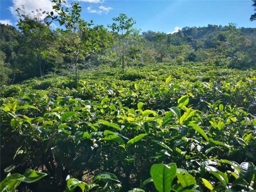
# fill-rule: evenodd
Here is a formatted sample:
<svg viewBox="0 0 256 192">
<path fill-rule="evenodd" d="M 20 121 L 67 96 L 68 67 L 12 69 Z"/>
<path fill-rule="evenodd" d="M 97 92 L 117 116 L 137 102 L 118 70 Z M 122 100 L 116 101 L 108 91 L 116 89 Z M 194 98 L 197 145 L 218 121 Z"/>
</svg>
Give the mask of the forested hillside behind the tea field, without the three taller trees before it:
<svg viewBox="0 0 256 192">
<path fill-rule="evenodd" d="M 103 26 L 97 26 L 103 32 Z M 50 30 L 50 29 L 49 29 Z M 102 30 L 102 31 L 101 31 Z M 102 34 L 103 35 L 103 34 Z M 92 69 L 107 64 L 120 67 L 121 53 L 115 37 L 107 33 L 99 43 L 97 54 L 87 55 L 78 61 L 79 69 Z M 233 37 L 234 35 L 234 37 Z M 51 31 L 42 49 L 41 67 L 38 66 L 36 47 L 33 40 L 15 27 L 0 25 L 1 37 L 1 86 L 40 77 L 43 74 L 69 74 L 74 65 L 64 51 L 65 42 L 57 32 Z M 46 38 L 46 37 L 45 37 Z M 68 41 L 68 40 L 66 40 Z M 234 25 L 207 27 L 185 27 L 174 34 L 147 31 L 134 32 L 126 37 L 125 59 L 128 66 L 143 63 L 187 61 L 216 64 L 229 68 L 255 68 L 256 28 L 235 29 Z M 221 52 L 220 52 L 221 51 Z"/>
</svg>

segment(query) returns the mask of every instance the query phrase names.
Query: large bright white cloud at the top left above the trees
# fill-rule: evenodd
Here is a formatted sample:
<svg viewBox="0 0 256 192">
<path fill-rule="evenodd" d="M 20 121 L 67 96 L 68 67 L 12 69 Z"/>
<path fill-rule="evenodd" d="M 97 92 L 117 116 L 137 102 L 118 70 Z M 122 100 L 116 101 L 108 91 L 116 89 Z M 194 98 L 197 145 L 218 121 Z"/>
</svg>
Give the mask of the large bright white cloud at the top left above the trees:
<svg viewBox="0 0 256 192">
<path fill-rule="evenodd" d="M 31 13 L 31 11 L 36 11 L 37 9 L 42 9 L 42 11 L 52 11 L 53 3 L 51 0 L 12 0 L 13 5 L 9 7 L 12 15 L 17 17 L 17 8 L 22 9 L 22 5 L 25 7 L 25 11 L 27 13 Z M 45 17 L 45 15 L 44 15 Z"/>
</svg>

